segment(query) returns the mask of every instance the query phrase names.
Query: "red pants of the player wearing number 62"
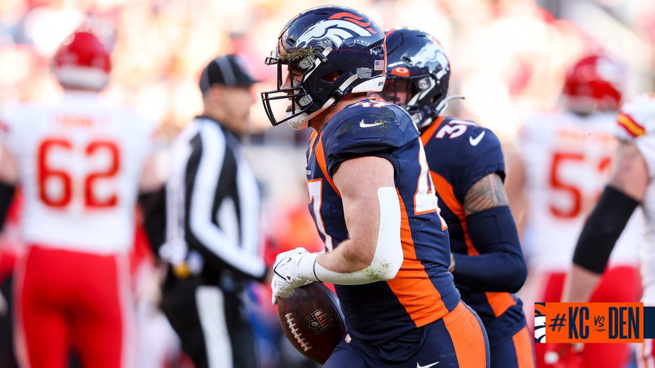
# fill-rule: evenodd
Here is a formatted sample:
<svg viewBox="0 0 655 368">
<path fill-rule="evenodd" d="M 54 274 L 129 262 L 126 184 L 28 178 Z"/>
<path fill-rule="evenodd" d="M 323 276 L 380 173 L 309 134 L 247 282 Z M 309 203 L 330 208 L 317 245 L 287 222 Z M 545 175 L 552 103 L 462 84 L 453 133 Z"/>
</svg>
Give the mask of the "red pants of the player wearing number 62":
<svg viewBox="0 0 655 368">
<path fill-rule="evenodd" d="M 31 246 L 16 277 L 16 350 L 22 367 L 131 367 L 128 260 Z"/>
</svg>

